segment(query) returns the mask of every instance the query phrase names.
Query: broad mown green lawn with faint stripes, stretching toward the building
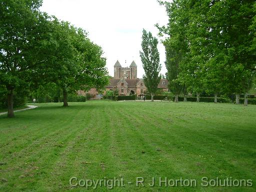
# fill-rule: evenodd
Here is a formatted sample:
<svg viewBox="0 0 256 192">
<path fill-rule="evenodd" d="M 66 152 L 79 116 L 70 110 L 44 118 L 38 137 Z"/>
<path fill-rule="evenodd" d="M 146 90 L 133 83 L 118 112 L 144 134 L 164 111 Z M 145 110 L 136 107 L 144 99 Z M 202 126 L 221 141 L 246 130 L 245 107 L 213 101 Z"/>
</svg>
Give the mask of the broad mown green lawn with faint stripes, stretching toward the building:
<svg viewBox="0 0 256 192">
<path fill-rule="evenodd" d="M 124 186 L 111 191 L 256 191 L 255 105 L 87 101 L 66 108 L 38 106 L 16 112 L 13 119 L 0 116 L 0 191 L 108 190 L 72 187 L 72 176 L 123 178 Z M 195 179 L 197 186 L 159 186 L 160 176 Z M 143 177 L 145 186 L 136 186 L 136 177 Z M 152 177 L 156 183 L 150 187 Z M 251 179 L 253 186 L 201 186 L 202 177 Z"/>
</svg>

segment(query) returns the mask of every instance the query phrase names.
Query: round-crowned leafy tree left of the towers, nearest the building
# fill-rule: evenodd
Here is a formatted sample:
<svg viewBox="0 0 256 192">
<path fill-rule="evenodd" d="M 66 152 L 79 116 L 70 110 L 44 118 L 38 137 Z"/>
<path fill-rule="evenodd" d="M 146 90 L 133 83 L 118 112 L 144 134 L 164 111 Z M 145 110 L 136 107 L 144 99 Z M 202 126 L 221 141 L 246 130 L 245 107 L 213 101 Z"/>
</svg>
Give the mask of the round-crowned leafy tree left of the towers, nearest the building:
<svg viewBox="0 0 256 192">
<path fill-rule="evenodd" d="M 101 47 L 92 43 L 81 28 L 55 18 L 48 49 L 52 54 L 48 59 L 47 79 L 62 89 L 63 106 L 68 106 L 68 92 L 88 87 L 101 89 L 107 84 Z"/>
</svg>

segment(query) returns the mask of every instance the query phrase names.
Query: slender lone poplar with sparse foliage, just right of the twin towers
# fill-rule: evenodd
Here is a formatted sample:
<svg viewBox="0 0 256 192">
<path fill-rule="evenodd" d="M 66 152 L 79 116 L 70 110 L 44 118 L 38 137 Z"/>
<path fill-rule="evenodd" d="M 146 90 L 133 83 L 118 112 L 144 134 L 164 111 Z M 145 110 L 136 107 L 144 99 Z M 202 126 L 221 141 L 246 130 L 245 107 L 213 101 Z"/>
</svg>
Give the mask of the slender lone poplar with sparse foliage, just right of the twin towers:
<svg viewBox="0 0 256 192">
<path fill-rule="evenodd" d="M 161 64 L 159 63 L 157 44 L 157 38 L 153 37 L 151 32 L 147 33 L 146 30 L 143 29 L 141 42 L 142 51 L 139 51 L 139 54 L 145 71 L 143 75 L 144 84 L 149 94 L 151 94 L 151 101 L 153 101 L 153 95 L 161 79 L 159 76 Z"/>
</svg>

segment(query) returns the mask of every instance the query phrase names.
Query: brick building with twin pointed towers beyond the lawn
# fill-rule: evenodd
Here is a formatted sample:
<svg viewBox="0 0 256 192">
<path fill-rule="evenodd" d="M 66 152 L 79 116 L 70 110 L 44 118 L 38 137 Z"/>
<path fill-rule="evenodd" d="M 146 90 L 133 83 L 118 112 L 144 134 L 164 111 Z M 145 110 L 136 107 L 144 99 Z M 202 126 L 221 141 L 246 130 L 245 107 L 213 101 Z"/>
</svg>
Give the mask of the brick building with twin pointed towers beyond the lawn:
<svg viewBox="0 0 256 192">
<path fill-rule="evenodd" d="M 157 88 L 162 91 L 168 91 L 167 79 L 160 79 Z M 129 67 L 122 67 L 117 60 L 114 64 L 114 77 L 109 79 L 109 84 L 106 90 L 117 89 L 119 95 L 137 94 L 143 95 L 146 91 L 143 79 L 137 78 L 137 65 L 134 61 L 131 62 Z M 103 94 L 105 94 L 106 90 Z M 84 91 L 78 91 L 78 94 L 85 95 Z M 88 94 L 92 95 L 92 99 L 100 99 L 103 95 L 99 94 L 96 88 L 90 88 Z"/>
</svg>

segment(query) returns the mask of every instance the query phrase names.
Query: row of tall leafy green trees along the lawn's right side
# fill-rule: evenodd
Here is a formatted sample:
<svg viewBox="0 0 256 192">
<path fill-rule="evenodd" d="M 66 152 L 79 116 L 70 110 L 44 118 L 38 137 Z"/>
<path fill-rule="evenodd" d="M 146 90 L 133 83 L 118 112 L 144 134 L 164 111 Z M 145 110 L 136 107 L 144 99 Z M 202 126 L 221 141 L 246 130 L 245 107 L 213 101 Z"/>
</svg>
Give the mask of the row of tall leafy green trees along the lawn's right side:
<svg viewBox="0 0 256 192">
<path fill-rule="evenodd" d="M 156 26 L 165 36 L 169 89 L 177 95 L 205 91 L 239 94 L 251 88 L 256 60 L 256 3 L 251 0 L 173 0 L 169 22 Z"/>
</svg>

